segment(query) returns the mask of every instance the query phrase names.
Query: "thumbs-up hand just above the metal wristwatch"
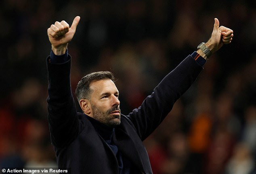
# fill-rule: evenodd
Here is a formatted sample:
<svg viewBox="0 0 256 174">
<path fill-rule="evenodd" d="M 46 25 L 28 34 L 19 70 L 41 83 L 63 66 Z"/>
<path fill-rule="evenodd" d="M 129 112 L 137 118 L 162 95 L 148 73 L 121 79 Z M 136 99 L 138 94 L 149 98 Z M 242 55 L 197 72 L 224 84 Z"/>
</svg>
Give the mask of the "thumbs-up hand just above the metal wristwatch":
<svg viewBox="0 0 256 174">
<path fill-rule="evenodd" d="M 206 46 L 210 49 L 212 53 L 220 49 L 224 44 L 231 43 L 233 39 L 233 30 L 220 26 L 219 20 L 214 18 L 214 27 L 212 31 L 212 36 L 206 43 Z"/>
</svg>

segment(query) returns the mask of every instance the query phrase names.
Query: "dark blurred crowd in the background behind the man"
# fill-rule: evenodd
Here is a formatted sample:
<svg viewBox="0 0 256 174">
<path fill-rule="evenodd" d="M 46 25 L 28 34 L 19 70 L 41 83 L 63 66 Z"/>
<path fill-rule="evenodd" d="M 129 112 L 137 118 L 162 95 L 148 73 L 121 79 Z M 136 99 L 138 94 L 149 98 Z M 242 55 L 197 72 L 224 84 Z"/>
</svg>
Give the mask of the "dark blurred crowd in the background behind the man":
<svg viewBox="0 0 256 174">
<path fill-rule="evenodd" d="M 85 74 L 111 71 L 124 115 L 210 38 L 214 17 L 233 29 L 232 43 L 212 55 L 144 144 L 154 174 L 256 174 L 256 2 L 249 0 L 0 1 L 0 167 L 56 167 L 47 28 L 77 15 L 68 47 L 73 92 Z"/>
</svg>

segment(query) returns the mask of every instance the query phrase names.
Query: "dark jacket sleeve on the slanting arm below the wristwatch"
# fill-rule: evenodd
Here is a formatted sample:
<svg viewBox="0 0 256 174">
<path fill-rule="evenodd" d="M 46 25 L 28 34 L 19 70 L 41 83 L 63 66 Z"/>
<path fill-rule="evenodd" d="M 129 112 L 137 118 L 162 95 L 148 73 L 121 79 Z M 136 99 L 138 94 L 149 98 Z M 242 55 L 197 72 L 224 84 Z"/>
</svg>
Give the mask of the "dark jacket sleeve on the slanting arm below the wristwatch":
<svg viewBox="0 0 256 174">
<path fill-rule="evenodd" d="M 189 55 L 128 115 L 142 141 L 162 123 L 174 102 L 189 89 L 202 69 Z"/>
</svg>

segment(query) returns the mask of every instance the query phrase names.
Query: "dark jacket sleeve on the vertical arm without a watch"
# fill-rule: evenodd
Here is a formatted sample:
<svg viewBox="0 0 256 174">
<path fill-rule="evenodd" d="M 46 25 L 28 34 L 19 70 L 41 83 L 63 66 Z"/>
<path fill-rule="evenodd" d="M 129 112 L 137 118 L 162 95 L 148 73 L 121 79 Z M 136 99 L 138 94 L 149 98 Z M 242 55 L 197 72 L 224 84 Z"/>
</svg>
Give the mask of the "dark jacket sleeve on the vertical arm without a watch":
<svg viewBox="0 0 256 174">
<path fill-rule="evenodd" d="M 65 147 L 78 135 L 78 115 L 71 92 L 70 68 L 71 56 L 65 63 L 50 63 L 46 59 L 48 70 L 48 122 L 52 144 Z"/>
</svg>

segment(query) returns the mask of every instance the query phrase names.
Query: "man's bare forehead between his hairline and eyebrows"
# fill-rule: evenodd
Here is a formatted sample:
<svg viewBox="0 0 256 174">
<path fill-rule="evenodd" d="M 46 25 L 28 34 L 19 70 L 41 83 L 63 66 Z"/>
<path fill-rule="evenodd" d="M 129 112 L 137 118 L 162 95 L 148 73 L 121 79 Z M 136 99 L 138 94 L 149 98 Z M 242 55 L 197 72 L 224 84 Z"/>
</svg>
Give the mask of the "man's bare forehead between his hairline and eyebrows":
<svg viewBox="0 0 256 174">
<path fill-rule="evenodd" d="M 115 86 L 115 83 L 110 80 L 98 80 L 95 82 L 90 83 L 90 88 L 93 90 L 93 93 L 95 94 L 102 94 L 105 92 L 115 93 L 118 92 L 117 87 Z"/>
</svg>

